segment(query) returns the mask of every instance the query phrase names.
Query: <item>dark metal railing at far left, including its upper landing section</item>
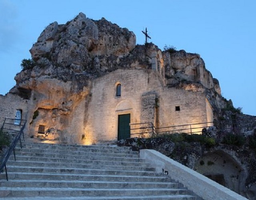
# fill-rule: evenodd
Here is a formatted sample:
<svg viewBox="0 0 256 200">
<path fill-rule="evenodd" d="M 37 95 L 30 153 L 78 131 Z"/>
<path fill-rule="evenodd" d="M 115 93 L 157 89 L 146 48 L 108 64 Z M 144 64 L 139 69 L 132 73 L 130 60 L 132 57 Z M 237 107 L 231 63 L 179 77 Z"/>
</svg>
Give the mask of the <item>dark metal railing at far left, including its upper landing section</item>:
<svg viewBox="0 0 256 200">
<path fill-rule="evenodd" d="M 9 130 L 12 132 L 18 131 L 18 133 L 14 136 L 12 143 L 10 144 L 8 150 L 3 154 L 3 156 L 0 159 L 0 174 L 1 174 L 1 172 L 3 172 L 3 169 L 4 169 L 7 181 L 8 181 L 8 174 L 7 174 L 6 162 L 8 161 L 8 158 L 10 157 L 10 154 L 12 151 L 14 154 L 14 160 L 16 161 L 15 147 L 16 147 L 18 140 L 20 140 L 20 148 L 22 148 L 21 135 L 23 136 L 23 141 L 25 141 L 23 130 L 26 125 L 26 120 L 20 120 L 20 124 L 14 123 L 15 120 L 16 119 L 5 118 L 4 124 L 1 127 L 1 131 L 4 131 L 4 130 Z M 19 128 L 19 130 L 18 130 L 18 128 Z"/>
</svg>

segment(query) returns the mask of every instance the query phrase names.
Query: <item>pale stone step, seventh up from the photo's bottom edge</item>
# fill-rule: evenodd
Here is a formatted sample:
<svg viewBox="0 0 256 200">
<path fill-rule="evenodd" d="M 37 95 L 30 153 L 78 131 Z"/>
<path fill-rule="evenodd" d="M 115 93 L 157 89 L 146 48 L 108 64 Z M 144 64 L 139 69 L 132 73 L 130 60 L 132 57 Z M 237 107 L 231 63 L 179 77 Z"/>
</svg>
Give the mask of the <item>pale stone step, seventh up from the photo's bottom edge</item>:
<svg viewBox="0 0 256 200">
<path fill-rule="evenodd" d="M 114 158 L 113 158 L 114 159 Z M 14 160 L 14 156 L 10 156 L 9 160 Z M 145 162 L 123 162 L 123 161 L 109 161 L 109 160 L 82 160 L 82 159 L 68 159 L 68 158 L 48 158 L 48 157 L 30 157 L 30 156 L 16 156 L 19 161 L 32 162 L 72 162 L 75 164 L 104 164 L 104 165 L 121 165 L 121 166 L 149 166 Z"/>
</svg>

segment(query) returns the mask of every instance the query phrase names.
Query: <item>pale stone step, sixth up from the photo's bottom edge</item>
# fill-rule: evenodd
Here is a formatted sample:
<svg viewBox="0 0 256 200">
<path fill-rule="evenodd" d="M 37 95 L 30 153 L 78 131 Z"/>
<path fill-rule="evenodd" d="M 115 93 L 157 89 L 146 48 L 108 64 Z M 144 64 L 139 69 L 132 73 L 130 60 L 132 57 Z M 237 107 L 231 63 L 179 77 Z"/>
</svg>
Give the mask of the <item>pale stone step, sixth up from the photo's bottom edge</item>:
<svg viewBox="0 0 256 200">
<path fill-rule="evenodd" d="M 105 170 L 126 170 L 126 171 L 155 171 L 155 168 L 147 166 L 114 166 L 107 164 L 76 164 L 66 162 L 32 162 L 32 161 L 14 161 L 8 160 L 7 170 L 9 166 L 25 166 L 25 167 L 45 167 L 45 168 L 94 168 L 94 169 L 105 169 Z"/>
</svg>

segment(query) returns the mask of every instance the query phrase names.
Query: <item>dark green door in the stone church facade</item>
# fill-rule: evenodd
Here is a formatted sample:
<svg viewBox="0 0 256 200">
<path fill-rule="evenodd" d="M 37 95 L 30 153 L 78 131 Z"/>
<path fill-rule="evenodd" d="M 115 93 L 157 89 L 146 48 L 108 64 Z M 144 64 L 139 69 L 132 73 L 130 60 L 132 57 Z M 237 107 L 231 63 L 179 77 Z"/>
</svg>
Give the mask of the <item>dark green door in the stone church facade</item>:
<svg viewBox="0 0 256 200">
<path fill-rule="evenodd" d="M 130 138 L 130 114 L 118 115 L 118 140 Z"/>
</svg>

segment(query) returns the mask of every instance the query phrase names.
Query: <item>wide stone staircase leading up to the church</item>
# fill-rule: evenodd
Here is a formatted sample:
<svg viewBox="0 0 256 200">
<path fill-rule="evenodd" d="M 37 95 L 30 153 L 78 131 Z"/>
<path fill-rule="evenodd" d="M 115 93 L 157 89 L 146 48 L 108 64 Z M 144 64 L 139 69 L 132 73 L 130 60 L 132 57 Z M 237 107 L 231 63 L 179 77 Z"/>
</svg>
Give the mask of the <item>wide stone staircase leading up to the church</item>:
<svg viewBox="0 0 256 200">
<path fill-rule="evenodd" d="M 26 142 L 15 152 L 9 180 L 0 174 L 3 199 L 200 199 L 128 148 Z"/>
</svg>

